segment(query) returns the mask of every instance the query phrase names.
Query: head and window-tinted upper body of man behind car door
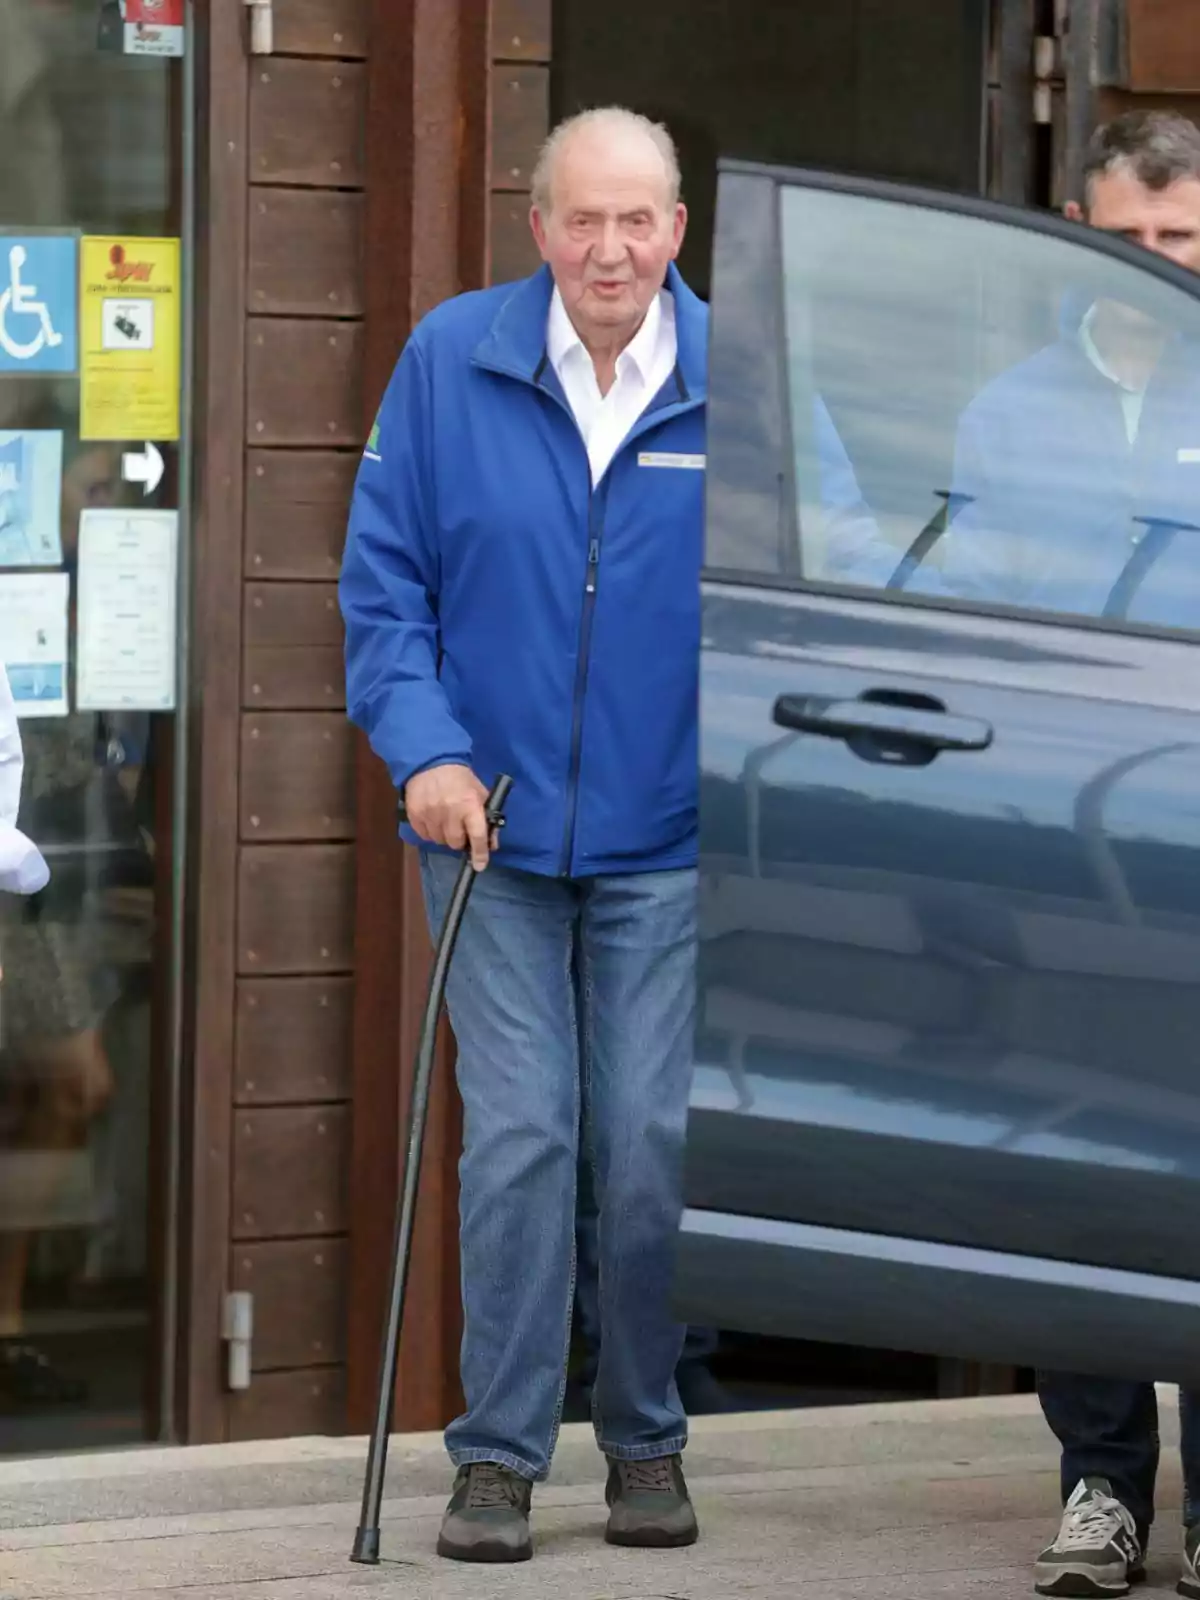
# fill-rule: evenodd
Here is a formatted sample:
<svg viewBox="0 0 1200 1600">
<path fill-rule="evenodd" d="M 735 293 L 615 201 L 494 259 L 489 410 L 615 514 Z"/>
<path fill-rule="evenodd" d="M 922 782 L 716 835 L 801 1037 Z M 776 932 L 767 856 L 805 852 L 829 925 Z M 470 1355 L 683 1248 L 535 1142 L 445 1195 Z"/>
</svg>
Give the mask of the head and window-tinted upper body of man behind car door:
<svg viewBox="0 0 1200 1600">
<path fill-rule="evenodd" d="M 1066 210 L 1200 270 L 1200 130 L 1173 112 L 1118 117 L 1091 141 L 1083 205 Z M 1118 293 L 1066 293 L 1058 339 L 966 406 L 941 574 L 907 587 L 1195 626 L 1200 341 Z"/>
</svg>

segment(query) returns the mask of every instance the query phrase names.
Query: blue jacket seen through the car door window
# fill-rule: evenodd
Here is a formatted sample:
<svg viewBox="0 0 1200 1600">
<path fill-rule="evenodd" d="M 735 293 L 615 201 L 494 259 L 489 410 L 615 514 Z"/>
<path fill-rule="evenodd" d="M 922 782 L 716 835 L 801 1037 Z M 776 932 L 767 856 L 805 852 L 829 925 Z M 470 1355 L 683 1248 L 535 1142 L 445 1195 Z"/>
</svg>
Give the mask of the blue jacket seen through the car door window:
<svg viewBox="0 0 1200 1600">
<path fill-rule="evenodd" d="M 963 411 L 941 581 L 910 587 L 1197 627 L 1200 350 L 1168 346 L 1130 445 L 1078 320 Z"/>
</svg>

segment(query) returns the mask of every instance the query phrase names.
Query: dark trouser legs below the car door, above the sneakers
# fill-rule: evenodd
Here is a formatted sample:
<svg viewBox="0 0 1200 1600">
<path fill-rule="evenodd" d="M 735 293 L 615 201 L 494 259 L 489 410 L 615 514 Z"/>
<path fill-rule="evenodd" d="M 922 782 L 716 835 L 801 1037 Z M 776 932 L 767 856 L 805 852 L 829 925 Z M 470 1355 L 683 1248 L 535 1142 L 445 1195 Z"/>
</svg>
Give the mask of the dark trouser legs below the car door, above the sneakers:
<svg viewBox="0 0 1200 1600">
<path fill-rule="evenodd" d="M 1158 1398 L 1154 1384 L 1038 1373 L 1042 1413 L 1062 1445 L 1062 1501 L 1080 1478 L 1107 1478 L 1142 1538 L 1154 1522 Z M 1179 1394 L 1184 1523 L 1200 1522 L 1200 1394 Z"/>
</svg>

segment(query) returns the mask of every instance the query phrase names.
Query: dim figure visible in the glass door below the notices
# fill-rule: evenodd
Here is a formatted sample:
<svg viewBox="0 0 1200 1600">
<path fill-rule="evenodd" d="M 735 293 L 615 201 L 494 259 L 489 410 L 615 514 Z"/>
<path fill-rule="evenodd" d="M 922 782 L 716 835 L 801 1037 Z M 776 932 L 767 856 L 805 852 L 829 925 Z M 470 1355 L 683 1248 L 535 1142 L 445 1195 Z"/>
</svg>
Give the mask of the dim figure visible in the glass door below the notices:
<svg viewBox="0 0 1200 1600">
<path fill-rule="evenodd" d="M 117 446 L 67 443 L 61 531 L 69 571 L 82 512 L 117 506 L 122 494 Z M 114 912 L 128 917 L 112 904 L 122 885 L 102 862 L 123 862 L 128 851 L 109 846 L 139 838 L 128 816 L 136 766 L 102 718 L 29 718 L 24 747 L 21 826 L 46 845 L 54 872 L 45 893 L 0 907 L 0 1162 L 21 1174 L 21 1203 L 0 1218 L 0 1410 L 86 1398 L 85 1384 L 30 1338 L 30 1261 L 45 1229 L 86 1227 L 96 1208 L 94 1194 L 85 1198 L 88 1147 L 114 1096 L 106 1019 L 122 989 Z M 147 950 L 149 936 L 138 942 Z"/>
</svg>

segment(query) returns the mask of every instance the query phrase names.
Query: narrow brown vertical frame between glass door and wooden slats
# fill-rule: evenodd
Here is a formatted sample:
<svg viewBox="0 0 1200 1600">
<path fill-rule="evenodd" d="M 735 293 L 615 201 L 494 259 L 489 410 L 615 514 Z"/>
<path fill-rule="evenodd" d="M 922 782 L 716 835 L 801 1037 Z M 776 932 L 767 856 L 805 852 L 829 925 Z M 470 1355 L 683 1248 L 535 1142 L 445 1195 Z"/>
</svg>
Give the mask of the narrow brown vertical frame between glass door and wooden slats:
<svg viewBox="0 0 1200 1600">
<path fill-rule="evenodd" d="M 179 1432 L 227 1437 L 238 864 L 250 54 L 245 6 L 197 6 L 197 362 L 186 1061 L 181 1104 Z"/>
</svg>

